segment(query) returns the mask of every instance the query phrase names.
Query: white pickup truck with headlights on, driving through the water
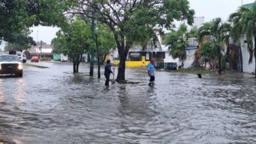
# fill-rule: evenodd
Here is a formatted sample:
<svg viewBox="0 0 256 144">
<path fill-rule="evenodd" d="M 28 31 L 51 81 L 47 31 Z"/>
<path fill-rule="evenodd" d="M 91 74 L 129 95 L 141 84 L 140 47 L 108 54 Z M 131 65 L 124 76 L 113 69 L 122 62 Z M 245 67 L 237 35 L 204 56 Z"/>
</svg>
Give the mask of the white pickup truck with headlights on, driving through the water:
<svg viewBox="0 0 256 144">
<path fill-rule="evenodd" d="M 0 74 L 23 75 L 23 67 L 16 55 L 0 55 Z"/>
</svg>

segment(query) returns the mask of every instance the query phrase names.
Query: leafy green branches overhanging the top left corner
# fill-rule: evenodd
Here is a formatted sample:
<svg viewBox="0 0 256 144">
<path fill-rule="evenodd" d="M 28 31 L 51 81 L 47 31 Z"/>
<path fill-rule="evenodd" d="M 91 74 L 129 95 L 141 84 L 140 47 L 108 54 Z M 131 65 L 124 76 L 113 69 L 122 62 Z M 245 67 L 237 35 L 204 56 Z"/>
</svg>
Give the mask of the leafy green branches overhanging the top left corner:
<svg viewBox="0 0 256 144">
<path fill-rule="evenodd" d="M 68 6 L 62 0 L 0 0 L 0 41 L 31 26 L 61 26 Z"/>
</svg>

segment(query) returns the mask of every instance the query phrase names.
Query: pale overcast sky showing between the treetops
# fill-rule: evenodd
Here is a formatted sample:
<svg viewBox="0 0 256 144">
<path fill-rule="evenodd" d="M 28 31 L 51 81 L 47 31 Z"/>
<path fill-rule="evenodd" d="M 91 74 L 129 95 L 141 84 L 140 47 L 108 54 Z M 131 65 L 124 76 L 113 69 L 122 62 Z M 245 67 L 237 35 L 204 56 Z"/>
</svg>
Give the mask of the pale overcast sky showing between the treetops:
<svg viewBox="0 0 256 144">
<path fill-rule="evenodd" d="M 212 20 L 213 18 L 220 17 L 223 20 L 227 20 L 229 14 L 236 12 L 238 7 L 243 4 L 253 3 L 255 0 L 188 0 L 190 2 L 190 8 L 194 9 L 195 16 L 204 16 L 205 22 Z M 32 27 L 33 30 L 31 36 L 34 41 L 44 41 L 47 44 L 51 44 L 51 40 L 55 37 L 56 27 Z"/>
</svg>

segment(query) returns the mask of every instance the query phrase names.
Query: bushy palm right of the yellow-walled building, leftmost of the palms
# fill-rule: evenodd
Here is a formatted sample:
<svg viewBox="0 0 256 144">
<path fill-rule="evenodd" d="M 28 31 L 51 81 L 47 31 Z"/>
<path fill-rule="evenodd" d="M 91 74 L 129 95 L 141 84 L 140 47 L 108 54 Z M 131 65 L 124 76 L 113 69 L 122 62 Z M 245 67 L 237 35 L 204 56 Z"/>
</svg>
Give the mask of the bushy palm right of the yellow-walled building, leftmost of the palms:
<svg viewBox="0 0 256 144">
<path fill-rule="evenodd" d="M 188 27 L 186 24 L 181 24 L 177 31 L 171 31 L 165 42 L 169 46 L 169 54 L 173 58 L 181 58 L 182 65 L 184 63 L 184 55 L 186 54 L 186 46 L 188 46 L 187 40 Z"/>
</svg>

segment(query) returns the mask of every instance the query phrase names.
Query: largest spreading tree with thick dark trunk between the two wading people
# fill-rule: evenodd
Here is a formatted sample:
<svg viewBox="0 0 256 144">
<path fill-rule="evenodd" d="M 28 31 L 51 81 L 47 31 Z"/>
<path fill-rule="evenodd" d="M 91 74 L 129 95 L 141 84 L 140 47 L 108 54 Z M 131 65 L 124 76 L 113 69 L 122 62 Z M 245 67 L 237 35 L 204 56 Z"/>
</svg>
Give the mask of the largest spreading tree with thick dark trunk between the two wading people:
<svg viewBox="0 0 256 144">
<path fill-rule="evenodd" d="M 125 61 L 133 43 L 149 41 L 154 37 L 154 27 L 173 27 L 174 20 L 188 20 L 192 24 L 194 10 L 187 0 L 150 1 L 98 1 L 75 2 L 71 13 L 82 13 L 106 24 L 114 33 L 119 53 L 117 81 L 125 82 Z"/>
</svg>

